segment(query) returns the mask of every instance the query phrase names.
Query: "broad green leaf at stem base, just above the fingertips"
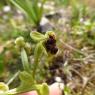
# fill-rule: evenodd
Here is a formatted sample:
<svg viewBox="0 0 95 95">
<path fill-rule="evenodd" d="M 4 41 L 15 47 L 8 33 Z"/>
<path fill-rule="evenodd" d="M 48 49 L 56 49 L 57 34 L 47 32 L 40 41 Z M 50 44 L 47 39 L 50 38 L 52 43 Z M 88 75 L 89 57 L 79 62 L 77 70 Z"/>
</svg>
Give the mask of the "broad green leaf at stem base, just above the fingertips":
<svg viewBox="0 0 95 95">
<path fill-rule="evenodd" d="M 21 85 L 17 88 L 17 92 L 27 92 L 35 89 L 35 80 L 31 73 L 23 71 L 20 73 Z"/>
</svg>

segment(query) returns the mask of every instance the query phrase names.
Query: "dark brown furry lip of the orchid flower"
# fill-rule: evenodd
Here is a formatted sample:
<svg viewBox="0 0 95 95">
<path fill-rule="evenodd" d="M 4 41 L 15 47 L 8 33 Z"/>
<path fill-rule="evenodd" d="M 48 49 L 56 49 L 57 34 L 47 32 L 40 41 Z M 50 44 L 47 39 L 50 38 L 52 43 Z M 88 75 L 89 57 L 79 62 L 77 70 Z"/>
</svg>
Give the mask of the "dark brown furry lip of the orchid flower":
<svg viewBox="0 0 95 95">
<path fill-rule="evenodd" d="M 45 41 L 45 48 L 47 52 L 50 52 L 51 54 L 57 53 L 58 48 L 56 47 L 56 40 L 54 36 L 50 35 L 48 40 Z"/>
</svg>

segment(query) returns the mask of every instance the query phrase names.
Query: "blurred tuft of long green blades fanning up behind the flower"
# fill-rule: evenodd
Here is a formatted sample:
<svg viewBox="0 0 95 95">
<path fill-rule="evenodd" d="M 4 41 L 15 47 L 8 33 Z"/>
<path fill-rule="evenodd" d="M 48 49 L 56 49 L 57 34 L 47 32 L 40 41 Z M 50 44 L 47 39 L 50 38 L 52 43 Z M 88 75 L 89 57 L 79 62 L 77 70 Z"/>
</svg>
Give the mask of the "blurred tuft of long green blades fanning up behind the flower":
<svg viewBox="0 0 95 95">
<path fill-rule="evenodd" d="M 43 5 L 46 0 L 41 1 L 41 6 L 38 6 L 39 0 L 10 0 L 16 7 L 21 9 L 30 18 L 35 26 L 38 26 L 42 15 Z"/>
</svg>

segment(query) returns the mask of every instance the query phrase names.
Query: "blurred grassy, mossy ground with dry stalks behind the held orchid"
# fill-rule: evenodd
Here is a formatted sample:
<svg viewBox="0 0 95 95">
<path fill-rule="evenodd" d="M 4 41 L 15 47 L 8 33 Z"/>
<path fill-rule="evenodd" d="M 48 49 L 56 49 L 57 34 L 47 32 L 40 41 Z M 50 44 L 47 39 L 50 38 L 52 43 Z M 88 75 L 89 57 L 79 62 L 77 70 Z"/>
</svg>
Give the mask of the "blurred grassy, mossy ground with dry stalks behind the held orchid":
<svg viewBox="0 0 95 95">
<path fill-rule="evenodd" d="M 39 67 L 38 82 L 60 77 L 68 95 L 95 95 L 95 0 L 0 0 L 0 81 L 19 84 L 18 77 L 12 81 L 23 69 L 15 38 L 32 42 L 31 31 L 49 30 L 57 35 L 59 51 L 48 67 Z"/>
</svg>

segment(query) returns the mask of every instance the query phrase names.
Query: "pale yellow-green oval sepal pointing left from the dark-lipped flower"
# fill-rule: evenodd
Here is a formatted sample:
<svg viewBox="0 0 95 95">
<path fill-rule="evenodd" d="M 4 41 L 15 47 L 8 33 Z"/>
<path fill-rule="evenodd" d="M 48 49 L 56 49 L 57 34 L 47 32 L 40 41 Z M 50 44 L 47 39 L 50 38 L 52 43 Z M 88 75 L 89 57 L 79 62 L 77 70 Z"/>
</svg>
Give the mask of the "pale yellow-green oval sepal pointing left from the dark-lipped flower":
<svg viewBox="0 0 95 95">
<path fill-rule="evenodd" d="M 46 38 L 43 34 L 41 34 L 39 32 L 32 32 L 32 33 L 30 33 L 30 36 L 35 42 L 39 42 Z"/>
</svg>

